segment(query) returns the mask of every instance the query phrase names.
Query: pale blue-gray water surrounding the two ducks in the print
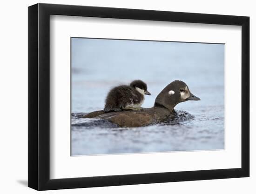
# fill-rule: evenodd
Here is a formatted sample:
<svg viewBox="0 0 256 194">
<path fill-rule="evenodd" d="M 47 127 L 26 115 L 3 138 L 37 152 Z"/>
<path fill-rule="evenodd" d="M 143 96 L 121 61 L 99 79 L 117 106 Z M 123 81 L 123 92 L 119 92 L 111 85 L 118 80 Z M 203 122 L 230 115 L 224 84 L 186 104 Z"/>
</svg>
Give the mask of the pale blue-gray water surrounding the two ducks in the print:
<svg viewBox="0 0 256 194">
<path fill-rule="evenodd" d="M 121 128 L 79 115 L 104 107 L 108 90 L 141 79 L 151 96 L 173 80 L 201 101 L 175 107 L 175 120 Z M 224 149 L 224 45 L 72 38 L 72 155 Z"/>
</svg>

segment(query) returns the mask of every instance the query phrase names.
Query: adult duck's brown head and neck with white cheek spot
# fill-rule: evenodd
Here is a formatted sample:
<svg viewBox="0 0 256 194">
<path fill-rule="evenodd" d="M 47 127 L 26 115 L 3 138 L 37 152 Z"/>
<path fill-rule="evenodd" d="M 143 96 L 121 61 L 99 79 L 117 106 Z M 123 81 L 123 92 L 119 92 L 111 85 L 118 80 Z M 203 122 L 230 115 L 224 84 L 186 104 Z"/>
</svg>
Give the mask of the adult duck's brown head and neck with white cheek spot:
<svg viewBox="0 0 256 194">
<path fill-rule="evenodd" d="M 189 87 L 183 81 L 175 80 L 165 87 L 155 99 L 155 107 L 165 107 L 169 111 L 180 102 L 188 100 L 200 100 L 189 91 Z"/>
</svg>

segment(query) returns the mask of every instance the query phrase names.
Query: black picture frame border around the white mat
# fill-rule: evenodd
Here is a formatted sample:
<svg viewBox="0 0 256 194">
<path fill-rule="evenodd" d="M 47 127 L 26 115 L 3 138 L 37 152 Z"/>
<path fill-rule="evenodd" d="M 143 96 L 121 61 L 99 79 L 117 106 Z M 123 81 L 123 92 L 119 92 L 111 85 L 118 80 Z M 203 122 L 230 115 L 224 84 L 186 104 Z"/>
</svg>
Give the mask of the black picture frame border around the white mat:
<svg viewBox="0 0 256 194">
<path fill-rule="evenodd" d="M 50 179 L 50 15 L 242 26 L 242 167 L 184 172 Z M 110 7 L 35 4 L 28 7 L 28 187 L 52 190 L 249 176 L 249 17 Z"/>
</svg>

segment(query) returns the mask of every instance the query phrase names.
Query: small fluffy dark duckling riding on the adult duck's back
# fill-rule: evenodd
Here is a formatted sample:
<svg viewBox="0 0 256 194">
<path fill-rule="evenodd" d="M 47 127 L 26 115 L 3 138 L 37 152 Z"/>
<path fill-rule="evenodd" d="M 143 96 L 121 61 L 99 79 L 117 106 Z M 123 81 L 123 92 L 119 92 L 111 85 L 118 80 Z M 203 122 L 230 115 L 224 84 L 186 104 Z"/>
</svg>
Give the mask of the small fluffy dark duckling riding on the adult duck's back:
<svg viewBox="0 0 256 194">
<path fill-rule="evenodd" d="M 151 95 L 148 92 L 147 84 L 141 80 L 134 80 L 129 86 L 114 87 L 107 95 L 104 112 L 139 110 L 144 102 L 145 94 Z"/>
</svg>

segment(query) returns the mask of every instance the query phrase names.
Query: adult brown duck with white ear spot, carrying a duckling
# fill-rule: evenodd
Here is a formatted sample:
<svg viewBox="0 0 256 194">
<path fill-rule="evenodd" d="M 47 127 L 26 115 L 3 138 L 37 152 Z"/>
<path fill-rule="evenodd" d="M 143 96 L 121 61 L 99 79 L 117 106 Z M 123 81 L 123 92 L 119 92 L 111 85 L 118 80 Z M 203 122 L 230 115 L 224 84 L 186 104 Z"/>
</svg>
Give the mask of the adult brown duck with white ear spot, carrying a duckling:
<svg viewBox="0 0 256 194">
<path fill-rule="evenodd" d="M 175 80 L 168 84 L 155 99 L 154 107 L 140 110 L 104 113 L 94 111 L 83 118 L 105 119 L 120 127 L 142 127 L 166 121 L 174 112 L 174 107 L 185 101 L 200 100 L 189 90 L 183 81 Z"/>
</svg>

